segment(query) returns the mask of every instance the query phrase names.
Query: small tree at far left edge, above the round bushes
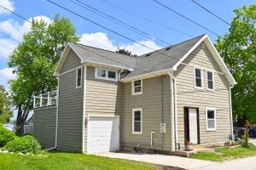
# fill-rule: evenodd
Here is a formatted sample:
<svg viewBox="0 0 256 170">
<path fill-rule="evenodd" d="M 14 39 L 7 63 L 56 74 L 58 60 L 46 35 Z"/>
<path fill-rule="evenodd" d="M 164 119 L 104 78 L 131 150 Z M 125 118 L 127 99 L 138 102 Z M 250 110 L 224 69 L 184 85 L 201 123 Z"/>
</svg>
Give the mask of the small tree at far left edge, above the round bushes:
<svg viewBox="0 0 256 170">
<path fill-rule="evenodd" d="M 0 123 L 7 122 L 13 115 L 8 92 L 0 85 Z"/>
</svg>

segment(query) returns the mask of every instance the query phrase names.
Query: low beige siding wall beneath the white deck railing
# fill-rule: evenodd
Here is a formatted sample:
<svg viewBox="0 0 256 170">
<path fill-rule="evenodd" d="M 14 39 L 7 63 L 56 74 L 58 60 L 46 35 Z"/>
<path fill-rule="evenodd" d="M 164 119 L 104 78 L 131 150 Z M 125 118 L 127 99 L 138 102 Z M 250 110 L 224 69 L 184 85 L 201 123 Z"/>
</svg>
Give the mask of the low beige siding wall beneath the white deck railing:
<svg viewBox="0 0 256 170">
<path fill-rule="evenodd" d="M 34 109 L 33 135 L 44 149 L 55 146 L 56 107 Z"/>
</svg>

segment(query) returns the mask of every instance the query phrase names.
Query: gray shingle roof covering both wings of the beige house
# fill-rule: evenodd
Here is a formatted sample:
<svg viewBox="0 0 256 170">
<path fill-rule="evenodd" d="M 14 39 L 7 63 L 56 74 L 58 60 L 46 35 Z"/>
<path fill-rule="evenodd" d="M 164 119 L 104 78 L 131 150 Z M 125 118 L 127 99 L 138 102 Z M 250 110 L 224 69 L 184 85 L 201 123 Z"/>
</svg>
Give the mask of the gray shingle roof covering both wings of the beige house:
<svg viewBox="0 0 256 170">
<path fill-rule="evenodd" d="M 137 58 L 79 43 L 69 43 L 69 45 L 84 60 L 134 69 L 134 71 L 125 76 L 127 78 L 172 68 L 204 36 L 201 35 L 167 48 L 161 48 L 154 52 L 140 55 Z"/>
</svg>

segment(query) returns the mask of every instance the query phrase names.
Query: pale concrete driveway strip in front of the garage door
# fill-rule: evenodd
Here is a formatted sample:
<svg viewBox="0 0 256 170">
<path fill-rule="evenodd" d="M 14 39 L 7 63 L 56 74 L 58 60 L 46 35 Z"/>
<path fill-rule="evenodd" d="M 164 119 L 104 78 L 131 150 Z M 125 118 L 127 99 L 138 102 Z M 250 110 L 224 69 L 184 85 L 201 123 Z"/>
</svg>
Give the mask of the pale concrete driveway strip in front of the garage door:
<svg viewBox="0 0 256 170">
<path fill-rule="evenodd" d="M 201 167 L 210 167 L 218 164 L 214 161 L 202 161 L 180 156 L 165 156 L 159 154 L 136 154 L 136 153 L 98 153 L 96 156 L 105 156 L 111 158 L 125 159 L 131 161 L 143 161 L 152 164 L 165 165 L 171 167 L 182 167 L 184 169 L 199 169 Z"/>
</svg>

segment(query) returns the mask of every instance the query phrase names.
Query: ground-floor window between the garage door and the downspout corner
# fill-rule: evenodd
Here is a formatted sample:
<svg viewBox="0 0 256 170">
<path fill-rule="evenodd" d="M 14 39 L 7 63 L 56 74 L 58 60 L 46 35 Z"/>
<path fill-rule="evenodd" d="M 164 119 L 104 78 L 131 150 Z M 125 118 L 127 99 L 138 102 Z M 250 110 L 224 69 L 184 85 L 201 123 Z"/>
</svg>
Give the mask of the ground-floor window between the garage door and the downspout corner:
<svg viewBox="0 0 256 170">
<path fill-rule="evenodd" d="M 143 133 L 143 111 L 142 109 L 132 110 L 132 133 Z"/>
</svg>

